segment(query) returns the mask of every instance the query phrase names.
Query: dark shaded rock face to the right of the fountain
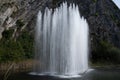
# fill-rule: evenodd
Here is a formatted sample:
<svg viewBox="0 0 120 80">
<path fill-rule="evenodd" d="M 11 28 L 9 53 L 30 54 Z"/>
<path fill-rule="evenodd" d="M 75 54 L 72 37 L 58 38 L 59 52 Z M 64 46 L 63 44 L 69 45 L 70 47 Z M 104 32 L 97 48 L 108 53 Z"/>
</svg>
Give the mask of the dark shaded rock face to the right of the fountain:
<svg viewBox="0 0 120 80">
<path fill-rule="evenodd" d="M 96 0 L 89 5 L 90 12 L 86 17 L 91 40 L 98 43 L 106 40 L 120 48 L 120 10 L 111 0 Z"/>
</svg>

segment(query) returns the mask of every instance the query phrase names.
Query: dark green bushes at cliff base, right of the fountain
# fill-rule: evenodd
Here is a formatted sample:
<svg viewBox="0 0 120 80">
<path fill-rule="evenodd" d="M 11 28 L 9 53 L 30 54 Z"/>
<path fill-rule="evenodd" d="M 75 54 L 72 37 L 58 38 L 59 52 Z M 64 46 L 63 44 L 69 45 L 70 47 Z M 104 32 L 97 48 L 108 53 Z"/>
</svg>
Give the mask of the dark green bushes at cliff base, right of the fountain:
<svg viewBox="0 0 120 80">
<path fill-rule="evenodd" d="M 99 46 L 93 50 L 92 58 L 93 62 L 119 64 L 120 49 L 107 41 L 101 41 Z"/>
</svg>

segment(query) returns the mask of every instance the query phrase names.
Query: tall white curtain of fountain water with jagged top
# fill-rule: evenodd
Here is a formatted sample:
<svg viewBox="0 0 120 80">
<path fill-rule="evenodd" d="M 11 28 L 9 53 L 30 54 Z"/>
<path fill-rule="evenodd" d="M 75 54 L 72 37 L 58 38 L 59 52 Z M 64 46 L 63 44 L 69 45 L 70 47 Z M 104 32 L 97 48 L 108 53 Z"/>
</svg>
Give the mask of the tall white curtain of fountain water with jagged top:
<svg viewBox="0 0 120 80">
<path fill-rule="evenodd" d="M 88 69 L 88 24 L 78 6 L 39 11 L 35 31 L 34 74 L 75 76 Z"/>
</svg>

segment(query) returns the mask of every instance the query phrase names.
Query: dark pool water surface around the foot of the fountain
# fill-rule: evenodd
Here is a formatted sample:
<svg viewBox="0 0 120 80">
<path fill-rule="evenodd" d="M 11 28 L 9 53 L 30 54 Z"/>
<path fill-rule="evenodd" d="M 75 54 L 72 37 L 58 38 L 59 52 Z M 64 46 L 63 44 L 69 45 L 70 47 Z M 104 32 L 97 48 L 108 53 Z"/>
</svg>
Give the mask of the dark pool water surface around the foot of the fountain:
<svg viewBox="0 0 120 80">
<path fill-rule="evenodd" d="M 28 73 L 19 73 L 9 76 L 8 80 L 120 80 L 120 69 L 91 70 L 84 74 L 83 77 L 73 79 L 60 79 L 50 76 L 32 76 Z"/>
</svg>

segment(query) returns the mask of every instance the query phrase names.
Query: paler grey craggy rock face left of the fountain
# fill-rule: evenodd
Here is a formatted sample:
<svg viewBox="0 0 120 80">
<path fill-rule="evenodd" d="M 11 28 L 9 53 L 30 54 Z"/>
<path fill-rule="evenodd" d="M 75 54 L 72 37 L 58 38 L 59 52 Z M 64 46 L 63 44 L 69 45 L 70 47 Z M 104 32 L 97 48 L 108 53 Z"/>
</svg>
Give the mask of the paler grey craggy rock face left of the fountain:
<svg viewBox="0 0 120 80">
<path fill-rule="evenodd" d="M 14 35 L 22 32 L 23 29 L 32 32 L 36 14 L 45 4 L 45 1 L 0 0 L 0 38 L 2 38 L 2 32 L 9 29 L 14 29 Z M 28 27 L 26 28 L 26 26 Z"/>
</svg>

